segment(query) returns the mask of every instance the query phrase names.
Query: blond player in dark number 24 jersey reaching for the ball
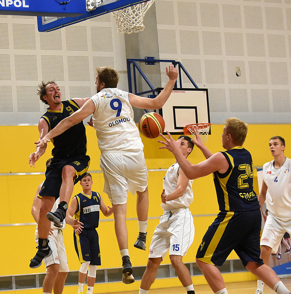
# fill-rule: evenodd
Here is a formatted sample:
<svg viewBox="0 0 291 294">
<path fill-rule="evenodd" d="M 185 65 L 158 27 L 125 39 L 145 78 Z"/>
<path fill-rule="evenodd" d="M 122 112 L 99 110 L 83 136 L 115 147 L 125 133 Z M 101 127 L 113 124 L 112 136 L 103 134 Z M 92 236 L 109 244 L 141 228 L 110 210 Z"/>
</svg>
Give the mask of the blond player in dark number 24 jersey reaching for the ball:
<svg viewBox="0 0 291 294">
<path fill-rule="evenodd" d="M 247 124 L 237 118 L 225 121 L 222 133 L 224 152 L 212 154 L 202 143 L 198 128 L 192 142 L 202 151 L 206 160 L 191 164 L 183 156 L 176 142 L 162 135 L 165 146 L 171 151 L 188 179 L 214 174 L 214 184 L 220 212 L 202 238 L 196 254 L 196 262 L 215 294 L 227 294 L 223 277 L 217 268 L 232 250 L 243 265 L 279 294 L 290 291 L 276 273 L 263 264 L 260 258 L 261 212 L 253 190 L 253 162 L 250 152 L 243 148 Z"/>
</svg>

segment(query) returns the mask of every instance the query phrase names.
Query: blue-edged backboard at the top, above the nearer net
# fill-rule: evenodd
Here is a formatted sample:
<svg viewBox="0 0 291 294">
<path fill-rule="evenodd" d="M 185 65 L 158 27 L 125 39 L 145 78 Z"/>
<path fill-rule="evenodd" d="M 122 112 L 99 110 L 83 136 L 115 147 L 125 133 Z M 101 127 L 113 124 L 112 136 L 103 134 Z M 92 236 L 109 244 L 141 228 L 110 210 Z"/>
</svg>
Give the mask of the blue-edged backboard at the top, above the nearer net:
<svg viewBox="0 0 291 294">
<path fill-rule="evenodd" d="M 1 0 L 0 0 L 1 1 Z M 4 1 L 4 0 L 3 0 Z M 92 0 L 95 3 L 96 8 L 91 11 L 86 10 L 86 2 L 83 1 L 83 14 L 76 17 L 63 17 L 63 18 L 50 18 L 38 17 L 38 31 L 39 32 L 50 32 L 56 29 L 60 29 L 65 26 L 72 25 L 74 23 L 81 22 L 83 20 L 90 19 L 92 17 L 100 16 L 105 13 L 109 13 L 115 10 L 123 9 L 134 4 L 145 2 L 145 0 Z M 90 1 L 89 1 L 90 2 Z"/>
</svg>

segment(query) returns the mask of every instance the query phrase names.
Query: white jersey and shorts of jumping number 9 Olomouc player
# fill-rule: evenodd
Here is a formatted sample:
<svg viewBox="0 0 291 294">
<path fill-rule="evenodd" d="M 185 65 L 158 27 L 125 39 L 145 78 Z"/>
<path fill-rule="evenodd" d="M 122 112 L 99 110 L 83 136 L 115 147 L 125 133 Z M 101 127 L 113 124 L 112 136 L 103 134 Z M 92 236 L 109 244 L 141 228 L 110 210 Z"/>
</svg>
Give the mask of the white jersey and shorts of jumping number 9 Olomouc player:
<svg viewBox="0 0 291 294">
<path fill-rule="evenodd" d="M 105 88 L 91 100 L 95 104 L 93 125 L 101 150 L 104 192 L 111 203 L 124 204 L 128 190 L 132 194 L 143 192 L 148 184 L 143 143 L 134 122 L 128 92 Z"/>
</svg>

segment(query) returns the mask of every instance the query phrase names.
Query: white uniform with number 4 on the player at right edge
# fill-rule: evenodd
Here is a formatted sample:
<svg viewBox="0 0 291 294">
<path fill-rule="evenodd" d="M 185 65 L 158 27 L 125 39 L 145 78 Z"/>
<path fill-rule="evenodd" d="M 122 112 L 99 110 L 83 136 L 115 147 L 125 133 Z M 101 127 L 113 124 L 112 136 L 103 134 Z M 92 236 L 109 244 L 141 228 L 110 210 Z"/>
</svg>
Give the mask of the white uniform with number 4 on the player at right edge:
<svg viewBox="0 0 291 294">
<path fill-rule="evenodd" d="M 274 167 L 274 160 L 265 163 L 263 180 L 268 187 L 268 216 L 260 244 L 271 247 L 272 253 L 277 253 L 284 233 L 291 233 L 291 160 L 286 158 L 279 169 Z"/>
</svg>

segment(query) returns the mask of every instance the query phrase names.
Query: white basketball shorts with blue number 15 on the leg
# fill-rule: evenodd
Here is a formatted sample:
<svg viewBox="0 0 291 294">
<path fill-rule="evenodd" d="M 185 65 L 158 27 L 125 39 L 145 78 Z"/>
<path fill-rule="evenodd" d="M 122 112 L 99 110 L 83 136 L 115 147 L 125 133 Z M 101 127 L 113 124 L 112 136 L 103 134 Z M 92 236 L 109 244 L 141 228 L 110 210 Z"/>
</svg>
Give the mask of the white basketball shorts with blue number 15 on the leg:
<svg viewBox="0 0 291 294">
<path fill-rule="evenodd" d="M 193 242 L 195 229 L 189 208 L 175 209 L 171 213 L 165 211 L 155 228 L 149 258 L 164 259 L 168 251 L 170 255 L 184 256 Z"/>
</svg>

